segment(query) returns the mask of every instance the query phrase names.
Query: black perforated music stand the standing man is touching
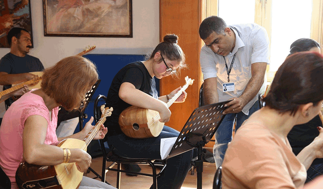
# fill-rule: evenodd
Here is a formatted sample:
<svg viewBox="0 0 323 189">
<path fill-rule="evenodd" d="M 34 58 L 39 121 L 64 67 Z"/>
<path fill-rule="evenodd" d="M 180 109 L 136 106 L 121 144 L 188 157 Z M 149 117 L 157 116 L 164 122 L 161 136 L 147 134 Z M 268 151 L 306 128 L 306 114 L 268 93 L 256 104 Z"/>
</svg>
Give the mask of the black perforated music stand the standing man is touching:
<svg viewBox="0 0 323 189">
<path fill-rule="evenodd" d="M 230 100 L 231 101 L 231 100 Z M 216 133 L 225 115 L 222 112 L 227 108 L 224 104 L 230 101 L 209 104 L 196 108 L 185 123 L 180 135 L 166 159 L 197 148 L 197 160 L 192 161 L 196 166 L 197 189 L 202 188 L 203 146 Z"/>
</svg>

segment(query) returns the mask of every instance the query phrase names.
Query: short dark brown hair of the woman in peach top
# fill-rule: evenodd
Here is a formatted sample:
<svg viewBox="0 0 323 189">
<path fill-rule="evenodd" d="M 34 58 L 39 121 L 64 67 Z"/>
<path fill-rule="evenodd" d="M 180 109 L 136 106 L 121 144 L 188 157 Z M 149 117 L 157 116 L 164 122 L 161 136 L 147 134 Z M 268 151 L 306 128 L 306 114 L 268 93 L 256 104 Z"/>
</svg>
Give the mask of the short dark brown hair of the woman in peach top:
<svg viewBox="0 0 323 189">
<path fill-rule="evenodd" d="M 279 67 L 270 91 L 263 99 L 266 106 L 280 113 L 295 115 L 300 105 L 323 100 L 323 56 L 318 52 L 297 52 Z"/>
</svg>

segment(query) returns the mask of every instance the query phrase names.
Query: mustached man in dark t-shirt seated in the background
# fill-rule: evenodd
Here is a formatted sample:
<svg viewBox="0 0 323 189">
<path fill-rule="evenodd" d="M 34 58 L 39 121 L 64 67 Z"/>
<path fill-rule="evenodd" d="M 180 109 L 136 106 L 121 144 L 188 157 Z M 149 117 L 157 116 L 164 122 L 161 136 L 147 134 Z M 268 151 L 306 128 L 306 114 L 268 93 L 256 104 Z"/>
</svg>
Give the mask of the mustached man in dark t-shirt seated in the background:
<svg viewBox="0 0 323 189">
<path fill-rule="evenodd" d="M 12 84 L 37 77 L 29 72 L 39 72 L 44 69 L 38 58 L 27 54 L 32 45 L 31 36 L 27 30 L 12 28 L 7 39 L 11 50 L 0 59 L 0 85 L 4 86 L 4 90 L 9 89 Z M 13 100 L 10 98 L 6 103 L 11 105 Z"/>
</svg>

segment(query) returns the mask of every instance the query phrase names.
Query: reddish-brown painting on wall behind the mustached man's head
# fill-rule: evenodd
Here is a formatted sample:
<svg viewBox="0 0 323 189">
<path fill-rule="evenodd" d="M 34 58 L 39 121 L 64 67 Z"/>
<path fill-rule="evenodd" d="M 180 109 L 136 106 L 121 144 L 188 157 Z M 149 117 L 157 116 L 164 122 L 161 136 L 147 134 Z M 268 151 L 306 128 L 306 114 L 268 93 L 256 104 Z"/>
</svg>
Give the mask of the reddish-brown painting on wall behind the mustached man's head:
<svg viewBox="0 0 323 189">
<path fill-rule="evenodd" d="M 7 34 L 13 27 L 29 31 L 33 44 L 30 0 L 0 0 L 0 48 L 10 48 Z"/>
</svg>

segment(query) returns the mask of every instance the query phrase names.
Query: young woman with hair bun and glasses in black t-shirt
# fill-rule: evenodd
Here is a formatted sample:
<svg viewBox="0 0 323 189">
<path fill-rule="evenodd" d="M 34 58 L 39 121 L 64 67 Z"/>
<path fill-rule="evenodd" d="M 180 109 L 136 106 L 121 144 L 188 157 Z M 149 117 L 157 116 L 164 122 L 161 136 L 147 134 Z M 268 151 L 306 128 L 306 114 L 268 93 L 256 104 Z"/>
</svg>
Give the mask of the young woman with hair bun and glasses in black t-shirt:
<svg viewBox="0 0 323 189">
<path fill-rule="evenodd" d="M 177 35 L 166 35 L 147 60 L 128 64 L 114 77 L 106 96 L 106 106 L 114 107 L 114 111 L 105 124 L 108 128 L 107 143 L 116 154 L 129 158 L 161 159 L 160 139 L 178 137 L 178 131 L 164 126 L 158 137 L 133 139 L 122 133 L 118 123 L 121 112 L 131 105 L 159 112 L 160 122 L 170 120 L 171 111 L 166 103 L 181 87 L 158 97 L 154 77 L 177 76 L 182 68 L 187 67 L 177 40 Z M 184 102 L 186 96 L 187 93 L 183 91 L 175 102 Z M 191 160 L 192 151 L 168 159 L 166 168 L 157 177 L 158 188 L 181 188 Z"/>
</svg>

